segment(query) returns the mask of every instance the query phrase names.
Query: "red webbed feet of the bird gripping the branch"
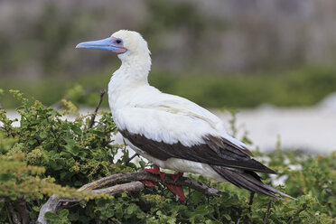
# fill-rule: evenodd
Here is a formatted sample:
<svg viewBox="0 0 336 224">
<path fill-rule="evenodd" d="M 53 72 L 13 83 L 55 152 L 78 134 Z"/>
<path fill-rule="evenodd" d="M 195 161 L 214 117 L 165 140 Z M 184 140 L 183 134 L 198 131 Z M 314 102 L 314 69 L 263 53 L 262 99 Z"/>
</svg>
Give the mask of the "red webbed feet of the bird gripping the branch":
<svg viewBox="0 0 336 224">
<path fill-rule="evenodd" d="M 154 174 L 159 174 L 161 180 L 164 180 L 164 176 L 165 173 L 160 172 L 160 168 L 154 164 L 153 169 L 145 169 L 144 171 L 149 172 L 149 173 L 154 173 Z M 176 182 L 177 180 L 179 180 L 180 177 L 182 177 L 183 173 L 176 173 L 176 174 L 171 174 L 173 180 Z M 145 186 L 147 187 L 154 187 L 157 182 L 151 182 L 151 181 L 142 181 Z M 184 196 L 184 192 L 183 192 L 183 188 L 182 186 L 179 185 L 174 185 L 174 184 L 170 184 L 170 183 L 166 183 L 165 186 L 173 192 L 173 194 L 175 194 L 178 197 L 179 201 L 185 201 L 185 196 Z"/>
</svg>

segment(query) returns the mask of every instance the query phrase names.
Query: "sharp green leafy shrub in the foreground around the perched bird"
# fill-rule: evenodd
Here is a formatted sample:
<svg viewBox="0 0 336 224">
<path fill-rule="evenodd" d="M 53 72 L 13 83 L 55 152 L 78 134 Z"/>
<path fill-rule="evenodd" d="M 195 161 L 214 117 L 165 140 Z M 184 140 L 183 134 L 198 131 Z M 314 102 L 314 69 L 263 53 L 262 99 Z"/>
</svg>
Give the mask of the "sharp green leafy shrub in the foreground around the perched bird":
<svg viewBox="0 0 336 224">
<path fill-rule="evenodd" d="M 77 114 L 70 101 L 63 100 L 58 112 L 41 102 L 12 91 L 21 107 L 20 126 L 0 112 L 0 223 L 10 222 L 8 203 L 25 195 L 31 219 L 52 192 L 69 196 L 73 188 L 113 173 L 138 171 L 142 167 L 125 163 L 128 152 L 111 143 L 117 132 L 110 113 L 100 112 L 98 122 L 90 126 L 90 115 Z M 77 114 L 77 115 L 76 115 Z M 67 115 L 68 118 L 64 116 Z M 69 117 L 72 117 L 71 119 Z M 233 119 L 232 126 L 235 121 Z M 235 127 L 234 127 L 235 128 Z M 235 130 L 233 128 L 233 130 Z M 110 144 L 111 143 L 111 144 Z M 117 152 L 123 152 L 120 158 Z M 297 200 L 275 200 L 256 195 L 249 205 L 249 193 L 230 183 L 192 177 L 222 191 L 211 197 L 188 191 L 186 202 L 176 201 L 163 185 L 137 193 L 115 197 L 87 197 L 72 207 L 48 212 L 51 223 L 334 223 L 336 221 L 336 153 L 311 157 L 298 152 L 255 153 L 259 160 L 279 172 L 263 175 L 266 183 L 285 180 L 279 190 Z M 63 186 L 63 187 L 61 187 Z M 91 200 L 90 200 L 91 199 Z"/>
</svg>

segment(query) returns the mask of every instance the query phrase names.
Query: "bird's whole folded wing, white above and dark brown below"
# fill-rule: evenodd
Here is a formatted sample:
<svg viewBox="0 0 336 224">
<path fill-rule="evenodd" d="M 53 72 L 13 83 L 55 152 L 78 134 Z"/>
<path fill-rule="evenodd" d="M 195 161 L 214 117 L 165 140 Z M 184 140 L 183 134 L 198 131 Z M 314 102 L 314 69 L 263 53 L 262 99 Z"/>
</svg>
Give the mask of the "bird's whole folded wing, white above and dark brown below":
<svg viewBox="0 0 336 224">
<path fill-rule="evenodd" d="M 199 163 L 275 173 L 225 131 L 223 122 L 188 99 L 169 94 L 133 96 L 134 103 L 113 114 L 124 137 L 160 160 L 181 158 Z M 150 98 L 148 100 L 148 98 Z"/>
</svg>

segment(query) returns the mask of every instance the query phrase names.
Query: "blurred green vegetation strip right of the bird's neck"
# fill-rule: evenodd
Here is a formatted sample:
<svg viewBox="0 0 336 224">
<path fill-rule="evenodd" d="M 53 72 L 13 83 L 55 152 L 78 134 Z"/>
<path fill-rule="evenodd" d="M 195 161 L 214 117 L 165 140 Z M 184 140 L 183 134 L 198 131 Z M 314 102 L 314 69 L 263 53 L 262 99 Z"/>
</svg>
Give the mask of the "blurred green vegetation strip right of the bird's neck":
<svg viewBox="0 0 336 224">
<path fill-rule="evenodd" d="M 335 70 L 303 67 L 271 74 L 218 76 L 198 73 L 176 77 L 153 73 L 151 83 L 164 92 L 190 98 L 204 107 L 312 106 L 335 90 Z"/>
</svg>

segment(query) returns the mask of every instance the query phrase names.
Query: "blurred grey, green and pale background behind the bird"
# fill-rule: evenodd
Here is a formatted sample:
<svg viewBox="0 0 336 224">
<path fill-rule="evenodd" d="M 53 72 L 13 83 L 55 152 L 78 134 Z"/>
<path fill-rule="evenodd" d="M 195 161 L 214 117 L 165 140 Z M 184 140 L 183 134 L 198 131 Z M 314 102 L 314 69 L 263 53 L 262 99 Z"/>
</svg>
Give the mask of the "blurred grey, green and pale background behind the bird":
<svg viewBox="0 0 336 224">
<path fill-rule="evenodd" d="M 79 42 L 120 29 L 152 51 L 150 83 L 202 107 L 238 108 L 243 135 L 261 149 L 336 149 L 336 1 L 0 0 L 1 107 L 6 93 L 55 106 L 94 107 L 120 65 Z M 107 98 L 103 107 L 107 106 Z"/>
</svg>

